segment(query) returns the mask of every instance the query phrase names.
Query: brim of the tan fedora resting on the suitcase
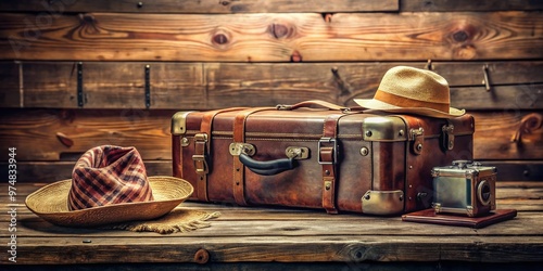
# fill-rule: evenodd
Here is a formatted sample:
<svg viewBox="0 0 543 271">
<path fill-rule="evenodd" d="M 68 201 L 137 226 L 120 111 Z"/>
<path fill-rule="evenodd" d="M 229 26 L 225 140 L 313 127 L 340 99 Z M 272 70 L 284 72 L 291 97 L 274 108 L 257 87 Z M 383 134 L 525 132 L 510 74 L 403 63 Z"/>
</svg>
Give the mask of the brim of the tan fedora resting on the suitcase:
<svg viewBox="0 0 543 271">
<path fill-rule="evenodd" d="M 453 118 L 466 114 L 465 109 L 449 108 L 449 114 L 428 107 L 400 107 L 375 99 L 354 99 L 354 102 L 364 108 L 370 111 L 383 111 L 390 113 L 415 114 L 437 118 Z M 366 111 L 365 111 L 366 112 Z"/>
</svg>

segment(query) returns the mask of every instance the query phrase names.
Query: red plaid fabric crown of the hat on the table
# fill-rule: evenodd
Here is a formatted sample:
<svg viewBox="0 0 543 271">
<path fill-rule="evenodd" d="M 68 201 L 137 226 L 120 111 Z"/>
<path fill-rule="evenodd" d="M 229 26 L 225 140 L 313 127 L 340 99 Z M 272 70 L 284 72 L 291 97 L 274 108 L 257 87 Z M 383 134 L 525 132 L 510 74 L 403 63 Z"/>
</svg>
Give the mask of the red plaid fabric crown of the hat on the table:
<svg viewBox="0 0 543 271">
<path fill-rule="evenodd" d="M 77 160 L 72 172 L 71 210 L 153 199 L 146 167 L 135 147 L 93 147 Z"/>
</svg>

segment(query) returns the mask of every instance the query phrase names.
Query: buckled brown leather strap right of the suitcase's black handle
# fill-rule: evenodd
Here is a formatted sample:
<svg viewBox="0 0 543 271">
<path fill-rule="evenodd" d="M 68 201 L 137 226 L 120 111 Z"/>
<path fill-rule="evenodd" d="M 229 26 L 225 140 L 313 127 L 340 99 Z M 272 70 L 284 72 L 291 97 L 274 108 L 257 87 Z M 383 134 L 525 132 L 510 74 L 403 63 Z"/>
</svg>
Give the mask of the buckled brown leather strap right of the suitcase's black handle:
<svg viewBox="0 0 543 271">
<path fill-rule="evenodd" d="M 323 208 L 328 214 L 338 214 L 336 208 L 336 184 L 338 178 L 338 121 L 345 114 L 330 114 L 325 119 L 323 138 L 318 142 L 318 163 L 323 166 Z"/>
</svg>

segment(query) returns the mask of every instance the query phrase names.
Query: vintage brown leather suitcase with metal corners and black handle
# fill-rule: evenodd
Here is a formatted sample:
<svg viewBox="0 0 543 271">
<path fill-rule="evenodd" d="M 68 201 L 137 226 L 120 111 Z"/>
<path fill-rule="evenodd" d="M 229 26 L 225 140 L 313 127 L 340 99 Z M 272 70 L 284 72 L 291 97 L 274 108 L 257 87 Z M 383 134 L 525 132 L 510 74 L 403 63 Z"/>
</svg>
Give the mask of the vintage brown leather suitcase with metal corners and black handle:
<svg viewBox="0 0 543 271">
<path fill-rule="evenodd" d="M 173 173 L 192 198 L 399 215 L 429 208 L 431 169 L 472 159 L 473 118 L 374 115 L 321 101 L 178 112 Z"/>
</svg>

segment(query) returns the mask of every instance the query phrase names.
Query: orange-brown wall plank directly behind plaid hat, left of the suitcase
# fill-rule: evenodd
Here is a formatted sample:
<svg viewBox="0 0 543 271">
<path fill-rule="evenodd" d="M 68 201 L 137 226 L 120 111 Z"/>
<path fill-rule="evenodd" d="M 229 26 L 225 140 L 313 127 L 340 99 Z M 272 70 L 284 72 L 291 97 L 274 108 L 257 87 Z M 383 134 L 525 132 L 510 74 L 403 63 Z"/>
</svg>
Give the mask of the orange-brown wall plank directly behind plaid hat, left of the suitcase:
<svg viewBox="0 0 543 271">
<path fill-rule="evenodd" d="M 0 147 L 16 147 L 18 162 L 74 160 L 102 144 L 132 145 L 146 160 L 172 159 L 171 111 L 1 109 Z M 73 141 L 62 143 L 60 138 Z"/>
</svg>

